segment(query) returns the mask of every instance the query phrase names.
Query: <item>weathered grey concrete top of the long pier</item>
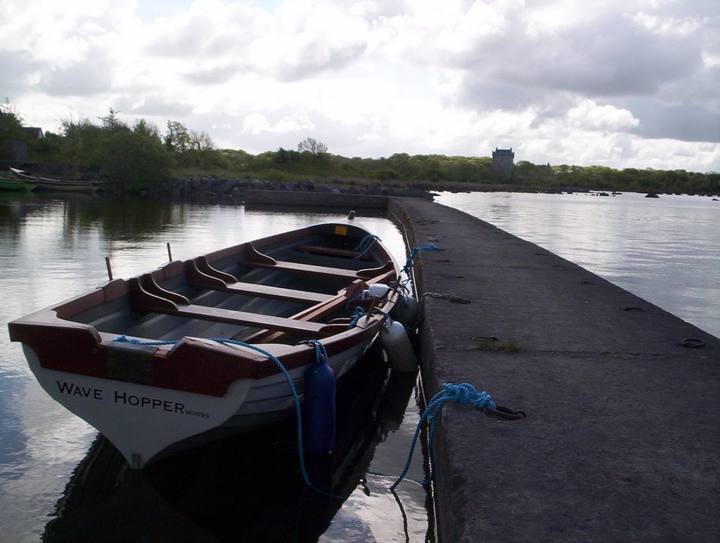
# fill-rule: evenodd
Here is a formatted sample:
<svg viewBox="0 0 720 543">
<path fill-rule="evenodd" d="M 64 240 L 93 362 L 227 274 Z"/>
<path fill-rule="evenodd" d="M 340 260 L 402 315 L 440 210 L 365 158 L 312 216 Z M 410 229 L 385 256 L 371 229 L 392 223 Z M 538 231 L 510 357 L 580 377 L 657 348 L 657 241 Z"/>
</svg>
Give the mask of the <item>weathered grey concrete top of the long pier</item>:
<svg viewBox="0 0 720 543">
<path fill-rule="evenodd" d="M 421 293 L 471 300 L 425 299 L 428 395 L 468 382 L 527 413 L 444 406 L 441 541 L 718 541 L 720 340 L 461 211 L 390 211 L 442 249 L 416 257 Z"/>
</svg>

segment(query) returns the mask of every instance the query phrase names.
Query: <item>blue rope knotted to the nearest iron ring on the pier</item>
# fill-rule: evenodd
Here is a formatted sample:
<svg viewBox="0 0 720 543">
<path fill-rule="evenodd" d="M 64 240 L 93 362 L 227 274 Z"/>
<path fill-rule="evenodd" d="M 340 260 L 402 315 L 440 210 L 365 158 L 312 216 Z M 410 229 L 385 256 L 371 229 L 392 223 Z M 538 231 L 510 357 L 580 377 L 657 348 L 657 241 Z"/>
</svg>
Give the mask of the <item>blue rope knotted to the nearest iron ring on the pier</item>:
<svg viewBox="0 0 720 543">
<path fill-rule="evenodd" d="M 451 383 L 443 383 L 443 389 L 436 393 L 435 396 L 428 403 L 423 414 L 420 416 L 418 421 L 418 427 L 415 429 L 415 436 L 413 437 L 413 443 L 410 445 L 410 453 L 408 454 L 408 462 L 405 463 L 405 469 L 402 470 L 402 474 L 397 478 L 395 483 L 392 484 L 390 490 L 395 490 L 395 487 L 405 478 L 405 475 L 410 469 L 410 461 L 413 459 L 413 452 L 415 451 L 415 444 L 418 441 L 420 435 L 420 429 L 423 426 L 424 421 L 428 421 L 430 429 L 428 430 L 428 456 L 430 457 L 430 473 L 428 478 L 421 483 L 423 486 L 428 485 L 433 478 L 433 466 L 435 460 L 433 458 L 433 438 L 435 437 L 435 426 L 440 414 L 442 406 L 448 402 L 454 401 L 456 403 L 472 403 L 475 409 L 487 411 L 487 409 L 495 409 L 495 402 L 490 398 L 490 394 L 485 391 L 478 392 L 473 385 L 469 383 L 460 383 L 459 385 L 453 385 Z"/>
</svg>

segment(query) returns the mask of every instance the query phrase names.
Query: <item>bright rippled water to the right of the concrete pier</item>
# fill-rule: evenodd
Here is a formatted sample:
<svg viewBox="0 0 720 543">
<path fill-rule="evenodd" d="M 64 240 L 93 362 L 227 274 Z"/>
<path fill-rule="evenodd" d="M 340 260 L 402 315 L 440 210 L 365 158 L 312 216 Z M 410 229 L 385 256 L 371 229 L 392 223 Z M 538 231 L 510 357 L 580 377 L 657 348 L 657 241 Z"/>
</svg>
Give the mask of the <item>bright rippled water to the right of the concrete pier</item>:
<svg viewBox="0 0 720 543">
<path fill-rule="evenodd" d="M 720 337 L 720 201 L 644 194 L 442 193 Z"/>
</svg>

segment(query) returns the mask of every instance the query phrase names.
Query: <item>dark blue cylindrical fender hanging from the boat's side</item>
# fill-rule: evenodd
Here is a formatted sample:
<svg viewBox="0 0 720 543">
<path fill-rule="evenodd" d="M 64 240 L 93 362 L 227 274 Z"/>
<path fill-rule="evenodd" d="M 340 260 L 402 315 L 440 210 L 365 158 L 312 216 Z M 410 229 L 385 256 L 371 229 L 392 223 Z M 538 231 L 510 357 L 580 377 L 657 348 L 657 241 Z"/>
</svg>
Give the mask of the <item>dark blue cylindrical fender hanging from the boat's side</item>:
<svg viewBox="0 0 720 543">
<path fill-rule="evenodd" d="M 305 370 L 303 393 L 302 444 L 313 455 L 329 455 L 335 444 L 335 373 L 324 353 Z"/>
</svg>

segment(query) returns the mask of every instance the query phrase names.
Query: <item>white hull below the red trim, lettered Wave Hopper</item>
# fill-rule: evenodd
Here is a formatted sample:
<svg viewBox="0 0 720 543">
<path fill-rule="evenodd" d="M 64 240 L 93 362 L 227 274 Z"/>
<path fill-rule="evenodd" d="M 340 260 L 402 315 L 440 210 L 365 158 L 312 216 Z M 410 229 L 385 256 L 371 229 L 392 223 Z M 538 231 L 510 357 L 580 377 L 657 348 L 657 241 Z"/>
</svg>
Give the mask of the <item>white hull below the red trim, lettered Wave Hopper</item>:
<svg viewBox="0 0 720 543">
<path fill-rule="evenodd" d="M 347 373 L 371 343 L 330 357 L 328 363 L 336 378 Z M 195 444 L 223 433 L 271 424 L 296 413 L 294 396 L 282 373 L 258 380 L 235 380 L 225 396 L 207 396 L 50 370 L 42 368 L 32 348 L 23 345 L 23 351 L 40 386 L 68 411 L 98 429 L 136 470 L 168 448 L 181 448 L 186 440 L 196 438 L 192 439 Z M 306 369 L 304 366 L 288 372 L 300 401 Z M 209 432 L 212 435 L 201 439 Z"/>
</svg>

